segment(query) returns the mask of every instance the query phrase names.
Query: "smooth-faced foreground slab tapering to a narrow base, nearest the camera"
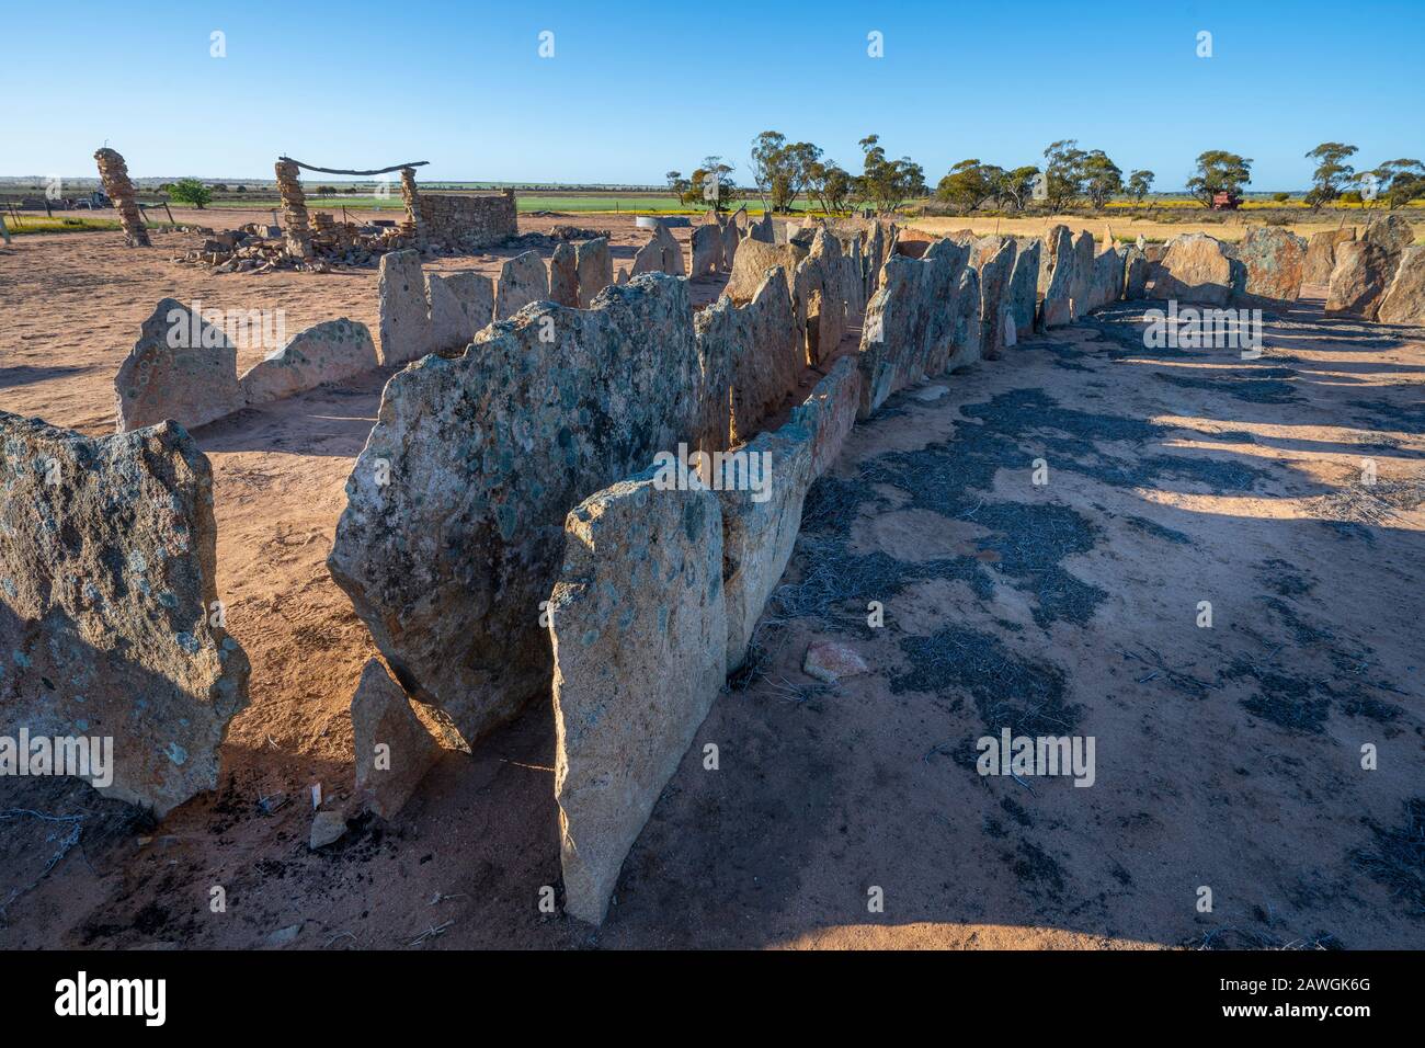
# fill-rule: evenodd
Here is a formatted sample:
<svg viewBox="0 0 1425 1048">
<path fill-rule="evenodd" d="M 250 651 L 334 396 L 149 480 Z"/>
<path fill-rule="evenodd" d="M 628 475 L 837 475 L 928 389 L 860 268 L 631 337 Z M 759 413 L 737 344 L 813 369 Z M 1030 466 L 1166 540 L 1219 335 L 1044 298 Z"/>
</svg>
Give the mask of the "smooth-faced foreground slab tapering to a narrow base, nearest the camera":
<svg viewBox="0 0 1425 1048">
<path fill-rule="evenodd" d="M 569 515 L 550 597 L 564 911 L 591 924 L 727 669 L 717 498 L 651 476 Z"/>
</svg>

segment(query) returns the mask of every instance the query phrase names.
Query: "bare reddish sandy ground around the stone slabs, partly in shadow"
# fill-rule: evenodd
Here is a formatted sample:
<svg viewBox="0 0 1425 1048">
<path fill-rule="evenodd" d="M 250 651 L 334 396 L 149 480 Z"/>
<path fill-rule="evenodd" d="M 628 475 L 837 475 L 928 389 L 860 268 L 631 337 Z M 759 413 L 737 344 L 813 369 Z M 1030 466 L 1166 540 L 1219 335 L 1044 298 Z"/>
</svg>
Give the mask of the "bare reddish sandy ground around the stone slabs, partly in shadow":
<svg viewBox="0 0 1425 1048">
<path fill-rule="evenodd" d="M 0 260 L 0 408 L 88 432 L 158 297 L 247 287 L 48 240 Z M 301 325 L 335 302 L 372 322 L 373 279 L 252 284 L 259 305 L 305 304 Z M 204 428 L 219 593 L 254 666 L 222 786 L 148 827 L 80 784 L 0 781 L 0 810 L 80 816 L 4 823 L 0 948 L 281 930 L 289 948 L 1425 945 L 1406 808 L 1425 793 L 1425 334 L 1318 314 L 1271 319 L 1244 362 L 1147 351 L 1121 305 L 858 426 L 808 500 L 754 672 L 597 933 L 537 905 L 559 885 L 544 703 L 449 754 L 395 823 L 308 850 L 311 786 L 351 788 L 372 646 L 323 560 L 383 376 Z M 815 637 L 872 672 L 818 684 L 799 669 Z M 1003 726 L 1093 736 L 1094 784 L 980 777 L 975 740 Z"/>
</svg>

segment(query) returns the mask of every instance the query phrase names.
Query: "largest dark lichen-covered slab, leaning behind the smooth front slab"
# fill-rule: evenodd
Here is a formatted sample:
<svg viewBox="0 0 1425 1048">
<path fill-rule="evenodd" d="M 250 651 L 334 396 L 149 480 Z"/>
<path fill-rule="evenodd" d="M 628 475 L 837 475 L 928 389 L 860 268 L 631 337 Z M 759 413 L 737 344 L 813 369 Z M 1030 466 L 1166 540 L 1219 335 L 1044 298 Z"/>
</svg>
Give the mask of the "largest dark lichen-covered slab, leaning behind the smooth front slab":
<svg viewBox="0 0 1425 1048">
<path fill-rule="evenodd" d="M 386 385 L 328 566 L 406 693 L 467 741 L 549 693 L 539 602 L 566 513 L 728 396 L 703 375 L 687 287 L 647 275 L 590 309 L 542 304 Z"/>
</svg>

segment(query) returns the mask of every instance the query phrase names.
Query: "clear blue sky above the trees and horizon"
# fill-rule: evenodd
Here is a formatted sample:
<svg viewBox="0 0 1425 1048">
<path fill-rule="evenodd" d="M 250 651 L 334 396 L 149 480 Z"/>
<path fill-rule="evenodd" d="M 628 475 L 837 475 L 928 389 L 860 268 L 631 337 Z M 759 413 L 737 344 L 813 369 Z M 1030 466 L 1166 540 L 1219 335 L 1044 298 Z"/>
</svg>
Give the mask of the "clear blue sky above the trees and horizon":
<svg viewBox="0 0 1425 1048">
<path fill-rule="evenodd" d="M 1425 158 L 1425 1 L 19 3 L 6 13 L 0 174 L 272 177 L 429 160 L 425 180 L 656 184 L 762 130 L 859 170 L 856 141 L 923 164 L 1036 163 L 1056 138 L 1183 185 L 1193 158 Z M 209 57 L 209 34 L 227 57 Z M 539 34 L 554 34 L 540 58 Z M 866 54 L 881 31 L 885 56 Z M 1213 34 L 1198 58 L 1197 34 Z"/>
</svg>

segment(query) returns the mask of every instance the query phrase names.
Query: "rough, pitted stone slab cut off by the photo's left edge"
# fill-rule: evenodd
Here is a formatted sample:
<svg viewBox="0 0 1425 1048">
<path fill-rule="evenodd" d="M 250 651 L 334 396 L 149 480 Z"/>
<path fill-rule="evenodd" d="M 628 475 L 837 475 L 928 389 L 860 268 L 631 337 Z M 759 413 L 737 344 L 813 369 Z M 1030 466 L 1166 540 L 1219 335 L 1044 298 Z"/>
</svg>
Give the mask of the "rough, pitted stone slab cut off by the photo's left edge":
<svg viewBox="0 0 1425 1048">
<path fill-rule="evenodd" d="M 111 739 L 94 784 L 160 817 L 217 787 L 248 659 L 217 625 L 208 459 L 171 422 L 95 441 L 0 412 L 0 734 Z"/>
</svg>

